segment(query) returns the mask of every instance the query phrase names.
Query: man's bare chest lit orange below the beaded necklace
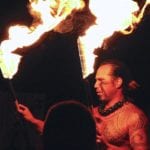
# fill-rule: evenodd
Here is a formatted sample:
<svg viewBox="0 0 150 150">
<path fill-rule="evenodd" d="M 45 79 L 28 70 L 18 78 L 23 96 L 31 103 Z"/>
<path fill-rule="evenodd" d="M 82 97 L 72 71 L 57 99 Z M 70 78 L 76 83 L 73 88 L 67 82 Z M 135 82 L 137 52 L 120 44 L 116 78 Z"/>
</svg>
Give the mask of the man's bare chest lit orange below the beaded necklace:
<svg viewBox="0 0 150 150">
<path fill-rule="evenodd" d="M 122 114 L 96 118 L 97 131 L 104 141 L 111 144 L 123 144 L 128 141 L 127 117 Z"/>
</svg>

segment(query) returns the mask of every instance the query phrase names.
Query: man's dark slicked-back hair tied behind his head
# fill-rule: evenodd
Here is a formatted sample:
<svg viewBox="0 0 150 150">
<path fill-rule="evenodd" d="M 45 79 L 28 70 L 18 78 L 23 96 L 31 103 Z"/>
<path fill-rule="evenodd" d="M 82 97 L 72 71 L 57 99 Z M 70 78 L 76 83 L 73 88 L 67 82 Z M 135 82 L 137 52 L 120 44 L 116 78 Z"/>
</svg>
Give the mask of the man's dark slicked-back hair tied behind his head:
<svg viewBox="0 0 150 150">
<path fill-rule="evenodd" d="M 121 61 L 116 59 L 107 59 L 104 60 L 100 66 L 110 64 L 112 66 L 112 75 L 115 77 L 120 77 L 123 80 L 123 92 L 126 94 L 130 90 L 135 90 L 139 87 L 138 83 L 133 80 L 131 72 L 128 67 Z M 100 67 L 99 66 L 99 67 Z"/>
</svg>

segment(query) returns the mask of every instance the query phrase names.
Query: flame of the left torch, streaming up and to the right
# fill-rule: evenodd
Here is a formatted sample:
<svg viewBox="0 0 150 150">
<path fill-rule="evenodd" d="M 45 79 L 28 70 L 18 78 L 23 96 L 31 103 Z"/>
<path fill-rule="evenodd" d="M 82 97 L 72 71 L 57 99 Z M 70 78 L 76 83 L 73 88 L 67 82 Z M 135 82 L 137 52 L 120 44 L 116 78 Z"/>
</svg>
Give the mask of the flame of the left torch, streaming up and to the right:
<svg viewBox="0 0 150 150">
<path fill-rule="evenodd" d="M 0 68 L 4 78 L 13 78 L 21 56 L 12 53 L 17 48 L 34 44 L 45 33 L 54 29 L 73 10 L 85 6 L 83 0 L 30 0 L 34 22 L 30 27 L 16 25 L 9 28 L 9 39 L 0 44 Z"/>
</svg>

